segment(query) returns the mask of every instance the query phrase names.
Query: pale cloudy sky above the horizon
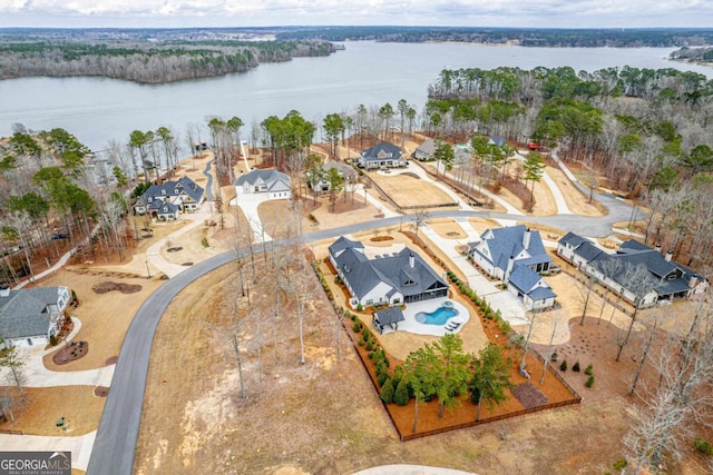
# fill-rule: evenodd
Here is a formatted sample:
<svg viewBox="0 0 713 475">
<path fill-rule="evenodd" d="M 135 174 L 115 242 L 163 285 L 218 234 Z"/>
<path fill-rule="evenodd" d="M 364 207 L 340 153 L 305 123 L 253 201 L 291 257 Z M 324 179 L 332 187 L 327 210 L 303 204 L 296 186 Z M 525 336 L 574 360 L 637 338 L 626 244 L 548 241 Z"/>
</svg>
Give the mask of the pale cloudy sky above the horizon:
<svg viewBox="0 0 713 475">
<path fill-rule="evenodd" d="M 713 28 L 711 0 L 0 0 L 0 28 Z"/>
</svg>

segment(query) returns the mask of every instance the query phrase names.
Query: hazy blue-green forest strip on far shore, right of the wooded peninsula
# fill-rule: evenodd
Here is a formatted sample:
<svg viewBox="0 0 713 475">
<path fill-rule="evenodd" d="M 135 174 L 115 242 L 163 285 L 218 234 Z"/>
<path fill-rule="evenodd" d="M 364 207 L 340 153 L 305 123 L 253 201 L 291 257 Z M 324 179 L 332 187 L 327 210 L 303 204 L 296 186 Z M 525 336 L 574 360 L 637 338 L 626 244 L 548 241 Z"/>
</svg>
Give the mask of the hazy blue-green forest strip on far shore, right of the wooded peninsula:
<svg viewBox="0 0 713 475">
<path fill-rule="evenodd" d="M 279 39 L 326 41 L 462 41 L 524 47 L 665 48 L 713 42 L 713 29 L 554 29 L 451 27 L 319 27 L 279 32 Z"/>
</svg>

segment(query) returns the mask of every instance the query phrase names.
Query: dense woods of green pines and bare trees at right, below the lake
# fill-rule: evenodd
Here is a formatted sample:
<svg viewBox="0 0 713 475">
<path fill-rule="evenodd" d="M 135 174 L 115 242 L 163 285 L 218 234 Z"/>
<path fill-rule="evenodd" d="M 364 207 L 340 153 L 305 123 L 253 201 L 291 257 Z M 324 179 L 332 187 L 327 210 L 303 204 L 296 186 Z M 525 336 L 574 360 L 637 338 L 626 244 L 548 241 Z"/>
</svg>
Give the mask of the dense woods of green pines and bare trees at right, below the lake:
<svg viewBox="0 0 713 475">
<path fill-rule="evenodd" d="M 713 81 L 676 69 L 443 70 L 429 86 L 423 127 L 557 148 L 592 188 L 621 190 L 651 209 L 646 243 L 702 270 L 713 264 L 712 95 Z"/>
</svg>

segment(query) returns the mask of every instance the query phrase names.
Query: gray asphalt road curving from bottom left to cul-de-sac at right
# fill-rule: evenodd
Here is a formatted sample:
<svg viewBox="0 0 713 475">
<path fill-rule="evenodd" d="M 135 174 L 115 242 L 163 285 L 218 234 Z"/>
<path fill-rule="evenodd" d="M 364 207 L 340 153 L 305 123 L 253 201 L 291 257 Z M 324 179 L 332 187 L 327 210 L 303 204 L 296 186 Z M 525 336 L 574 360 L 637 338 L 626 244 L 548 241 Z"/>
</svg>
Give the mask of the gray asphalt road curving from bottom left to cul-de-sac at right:
<svg viewBox="0 0 713 475">
<path fill-rule="evenodd" d="M 208 188 L 209 189 L 209 188 Z M 603 205 L 609 208 L 609 214 L 602 217 L 583 217 L 576 215 L 560 215 L 547 217 L 528 217 L 487 211 L 449 210 L 434 211 L 432 218 L 441 217 L 485 217 L 495 219 L 528 220 L 547 224 L 549 226 L 567 229 L 585 236 L 603 237 L 612 232 L 611 224 L 627 221 L 632 207 L 613 197 L 596 195 Z M 399 224 L 411 224 L 413 216 L 399 216 L 378 219 L 369 222 L 343 226 L 334 229 L 306 234 L 306 243 L 375 229 Z M 280 241 L 267 245 L 279 245 Z M 261 246 L 256 246 L 260 251 Z M 119 359 L 114 372 L 111 388 L 101 415 L 99 429 L 91 452 L 91 458 L 87 467 L 89 475 L 130 475 L 134 467 L 134 452 L 138 438 L 141 409 L 144 406 L 144 390 L 148 375 L 148 360 L 156 327 L 160 321 L 166 307 L 173 298 L 187 285 L 198 277 L 232 261 L 236 257 L 235 251 L 227 251 L 196 264 L 168 280 L 152 294 L 138 309 L 131 325 L 124 338 L 119 353 Z"/>
</svg>

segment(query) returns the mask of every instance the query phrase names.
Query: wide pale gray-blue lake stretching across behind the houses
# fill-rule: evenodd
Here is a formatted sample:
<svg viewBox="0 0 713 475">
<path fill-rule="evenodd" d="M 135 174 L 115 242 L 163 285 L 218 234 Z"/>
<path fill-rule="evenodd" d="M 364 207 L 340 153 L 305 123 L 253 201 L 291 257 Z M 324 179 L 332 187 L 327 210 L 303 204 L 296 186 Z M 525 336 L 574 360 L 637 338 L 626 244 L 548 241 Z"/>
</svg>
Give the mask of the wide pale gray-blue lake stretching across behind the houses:
<svg viewBox="0 0 713 475">
<path fill-rule="evenodd" d="M 427 87 L 443 68 L 533 69 L 570 66 L 593 71 L 629 65 L 677 68 L 706 75 L 704 66 L 668 61 L 673 48 L 521 48 L 461 43 L 346 42 L 326 58 L 296 58 L 266 63 L 244 73 L 168 85 L 136 85 L 105 78 L 23 78 L 0 81 L 0 136 L 12 125 L 32 130 L 61 127 L 92 149 L 109 140 L 127 141 L 131 130 L 172 126 L 180 136 L 191 122 L 238 116 L 250 132 L 253 121 L 297 110 L 321 123 L 332 112 L 358 105 L 395 107 L 406 99 L 417 110 Z M 316 137 L 320 139 L 320 137 Z M 180 140 L 182 147 L 185 147 Z"/>
</svg>

